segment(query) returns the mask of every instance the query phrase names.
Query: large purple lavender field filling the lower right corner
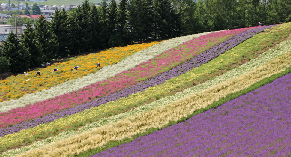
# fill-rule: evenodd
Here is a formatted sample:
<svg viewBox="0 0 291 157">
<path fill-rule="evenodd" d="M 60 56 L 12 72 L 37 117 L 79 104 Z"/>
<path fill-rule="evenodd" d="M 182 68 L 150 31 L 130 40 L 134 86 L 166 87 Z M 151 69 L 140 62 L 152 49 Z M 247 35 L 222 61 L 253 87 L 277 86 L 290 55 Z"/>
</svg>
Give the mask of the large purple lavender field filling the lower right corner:
<svg viewBox="0 0 291 157">
<path fill-rule="evenodd" d="M 217 109 L 93 156 L 290 156 L 291 73 Z"/>
</svg>

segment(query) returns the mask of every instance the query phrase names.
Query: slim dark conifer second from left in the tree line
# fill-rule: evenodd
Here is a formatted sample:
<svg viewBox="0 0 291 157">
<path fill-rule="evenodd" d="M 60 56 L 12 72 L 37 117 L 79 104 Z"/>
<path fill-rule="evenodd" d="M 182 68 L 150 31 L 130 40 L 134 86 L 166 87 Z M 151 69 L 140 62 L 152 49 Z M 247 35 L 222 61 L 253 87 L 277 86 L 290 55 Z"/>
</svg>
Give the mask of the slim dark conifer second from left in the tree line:
<svg viewBox="0 0 291 157">
<path fill-rule="evenodd" d="M 36 40 L 35 29 L 32 28 L 29 19 L 27 19 L 26 23 L 26 29 L 23 30 L 23 34 L 21 35 L 21 43 L 28 49 L 31 55 L 29 60 L 30 68 L 34 68 L 40 66 L 41 63 L 44 62 L 44 59 L 42 57 L 40 44 L 38 40 Z"/>
</svg>

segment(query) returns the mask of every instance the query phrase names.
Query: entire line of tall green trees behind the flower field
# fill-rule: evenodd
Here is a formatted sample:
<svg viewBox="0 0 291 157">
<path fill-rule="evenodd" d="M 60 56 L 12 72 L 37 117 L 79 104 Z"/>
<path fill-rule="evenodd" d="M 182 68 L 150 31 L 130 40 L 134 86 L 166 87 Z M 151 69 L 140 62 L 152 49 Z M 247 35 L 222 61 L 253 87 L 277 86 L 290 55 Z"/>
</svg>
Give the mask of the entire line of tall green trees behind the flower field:
<svg viewBox="0 0 291 157">
<path fill-rule="evenodd" d="M 22 72 L 41 63 L 90 50 L 164 40 L 181 35 L 291 21 L 289 0 L 85 0 L 27 21 L 21 39 L 10 33 L 2 46 L 0 72 Z"/>
</svg>

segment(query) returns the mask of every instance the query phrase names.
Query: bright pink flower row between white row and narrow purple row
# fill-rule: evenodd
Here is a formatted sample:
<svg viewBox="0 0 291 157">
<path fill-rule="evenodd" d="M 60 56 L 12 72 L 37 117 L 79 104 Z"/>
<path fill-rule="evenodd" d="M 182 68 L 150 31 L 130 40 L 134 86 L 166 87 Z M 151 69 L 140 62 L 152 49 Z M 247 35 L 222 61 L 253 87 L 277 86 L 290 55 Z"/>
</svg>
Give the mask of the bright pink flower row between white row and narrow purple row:
<svg viewBox="0 0 291 157">
<path fill-rule="evenodd" d="M 15 108 L 7 113 L 0 113 L 0 128 L 42 117 L 133 86 L 181 64 L 209 47 L 224 41 L 226 38 L 252 28 L 221 31 L 193 38 L 193 40 L 170 49 L 154 59 L 149 59 L 129 71 L 123 71 L 113 78 L 97 82 L 75 92 L 29 104 L 23 108 Z"/>
</svg>

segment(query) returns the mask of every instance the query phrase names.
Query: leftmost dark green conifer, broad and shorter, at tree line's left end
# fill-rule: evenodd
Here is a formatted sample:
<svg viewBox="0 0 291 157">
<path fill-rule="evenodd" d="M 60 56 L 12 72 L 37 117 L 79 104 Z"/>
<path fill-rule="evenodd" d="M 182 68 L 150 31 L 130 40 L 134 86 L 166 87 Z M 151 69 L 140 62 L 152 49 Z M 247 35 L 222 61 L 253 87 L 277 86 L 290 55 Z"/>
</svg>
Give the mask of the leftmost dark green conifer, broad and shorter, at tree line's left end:
<svg viewBox="0 0 291 157">
<path fill-rule="evenodd" d="M 22 72 L 29 68 L 28 49 L 20 43 L 13 32 L 10 32 L 6 41 L 3 42 L 2 54 L 9 60 L 11 72 Z"/>
</svg>

